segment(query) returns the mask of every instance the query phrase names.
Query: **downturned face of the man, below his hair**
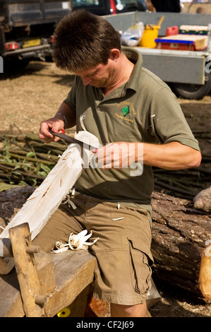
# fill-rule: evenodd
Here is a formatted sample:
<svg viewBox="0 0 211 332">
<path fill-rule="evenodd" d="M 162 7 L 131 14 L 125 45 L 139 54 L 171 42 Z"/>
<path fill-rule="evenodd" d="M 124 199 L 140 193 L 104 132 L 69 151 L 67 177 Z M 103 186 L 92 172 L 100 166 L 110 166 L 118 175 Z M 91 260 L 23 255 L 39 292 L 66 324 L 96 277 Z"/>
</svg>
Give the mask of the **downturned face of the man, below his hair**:
<svg viewBox="0 0 211 332">
<path fill-rule="evenodd" d="M 92 85 L 95 88 L 106 88 L 112 81 L 114 69 L 112 61 L 109 59 L 107 64 L 98 64 L 92 69 L 78 71 L 84 85 Z"/>
</svg>

